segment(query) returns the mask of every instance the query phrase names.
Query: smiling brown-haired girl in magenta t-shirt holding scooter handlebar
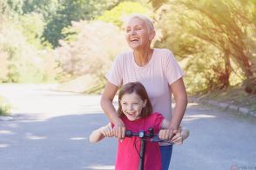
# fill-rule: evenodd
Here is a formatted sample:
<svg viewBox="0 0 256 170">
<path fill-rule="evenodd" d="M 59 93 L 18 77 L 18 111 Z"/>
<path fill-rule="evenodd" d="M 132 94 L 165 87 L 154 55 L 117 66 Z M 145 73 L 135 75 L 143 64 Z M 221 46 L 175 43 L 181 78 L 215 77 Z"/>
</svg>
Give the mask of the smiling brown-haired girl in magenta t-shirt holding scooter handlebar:
<svg viewBox="0 0 256 170">
<path fill-rule="evenodd" d="M 153 127 L 154 133 L 162 140 L 172 141 L 181 144 L 188 135 L 187 129 L 179 130 L 175 136 L 172 135 L 169 127 L 170 122 L 159 113 L 152 113 L 152 104 L 146 93 L 145 87 L 140 82 L 129 82 L 121 88 L 118 95 L 118 115 L 124 121 L 126 130 L 138 133 L 148 131 Z M 104 137 L 113 137 L 113 125 L 109 123 L 93 131 L 90 135 L 91 142 L 98 142 Z M 137 170 L 139 165 L 140 139 L 138 136 L 126 137 L 118 141 L 118 154 L 116 170 Z M 145 169 L 161 170 L 161 154 L 157 142 L 146 141 L 145 147 Z"/>
</svg>

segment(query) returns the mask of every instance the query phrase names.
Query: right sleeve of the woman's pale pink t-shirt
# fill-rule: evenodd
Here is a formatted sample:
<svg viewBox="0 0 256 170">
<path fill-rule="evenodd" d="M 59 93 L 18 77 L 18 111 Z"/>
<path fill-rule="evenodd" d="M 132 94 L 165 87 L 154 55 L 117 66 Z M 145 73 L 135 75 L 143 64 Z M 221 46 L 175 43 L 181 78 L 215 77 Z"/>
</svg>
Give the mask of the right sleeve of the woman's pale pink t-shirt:
<svg viewBox="0 0 256 170">
<path fill-rule="evenodd" d="M 175 60 L 172 52 L 168 50 L 166 61 L 166 77 L 169 84 L 176 82 L 179 78 L 184 76 L 182 69 L 179 67 L 179 63 Z"/>
</svg>

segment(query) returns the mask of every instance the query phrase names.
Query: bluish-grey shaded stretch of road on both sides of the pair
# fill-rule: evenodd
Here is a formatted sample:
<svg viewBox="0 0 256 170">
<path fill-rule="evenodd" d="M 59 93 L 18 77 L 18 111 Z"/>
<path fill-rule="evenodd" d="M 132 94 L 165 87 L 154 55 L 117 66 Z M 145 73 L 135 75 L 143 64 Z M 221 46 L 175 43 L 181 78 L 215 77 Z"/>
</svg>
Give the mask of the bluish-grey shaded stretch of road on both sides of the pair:
<svg viewBox="0 0 256 170">
<path fill-rule="evenodd" d="M 117 140 L 88 141 L 93 129 L 107 123 L 104 114 L 38 117 L 40 114 L 29 114 L 0 121 L 1 169 L 114 168 Z M 256 167 L 254 123 L 194 104 L 188 107 L 182 126 L 191 135 L 184 145 L 174 146 L 172 169 Z"/>
</svg>

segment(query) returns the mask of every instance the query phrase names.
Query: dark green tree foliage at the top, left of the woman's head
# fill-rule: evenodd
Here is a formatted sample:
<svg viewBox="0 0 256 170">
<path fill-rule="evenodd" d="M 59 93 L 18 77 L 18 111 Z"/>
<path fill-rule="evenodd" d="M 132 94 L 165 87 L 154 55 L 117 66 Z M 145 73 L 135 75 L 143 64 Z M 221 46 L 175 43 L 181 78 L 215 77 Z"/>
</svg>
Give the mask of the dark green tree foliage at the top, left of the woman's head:
<svg viewBox="0 0 256 170">
<path fill-rule="evenodd" d="M 44 37 L 57 47 L 58 40 L 63 39 L 62 30 L 71 25 L 71 21 L 91 20 L 100 15 L 112 5 L 118 3 L 112 1 L 95 0 L 62 0 L 57 5 L 56 13 L 47 21 L 44 29 Z"/>
</svg>

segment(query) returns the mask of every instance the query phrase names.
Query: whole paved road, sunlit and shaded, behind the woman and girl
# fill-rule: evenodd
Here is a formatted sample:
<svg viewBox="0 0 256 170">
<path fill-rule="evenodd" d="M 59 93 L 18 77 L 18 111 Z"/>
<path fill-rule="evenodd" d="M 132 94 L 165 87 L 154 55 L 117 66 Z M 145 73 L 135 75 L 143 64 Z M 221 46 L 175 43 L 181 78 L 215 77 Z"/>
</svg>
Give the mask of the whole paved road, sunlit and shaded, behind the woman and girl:
<svg viewBox="0 0 256 170">
<path fill-rule="evenodd" d="M 98 95 L 60 93 L 56 85 L 0 85 L 14 119 L 0 121 L 1 170 L 113 169 L 117 140 L 91 144 L 107 120 Z M 256 121 L 190 103 L 191 136 L 175 146 L 172 170 L 256 169 Z"/>
</svg>

